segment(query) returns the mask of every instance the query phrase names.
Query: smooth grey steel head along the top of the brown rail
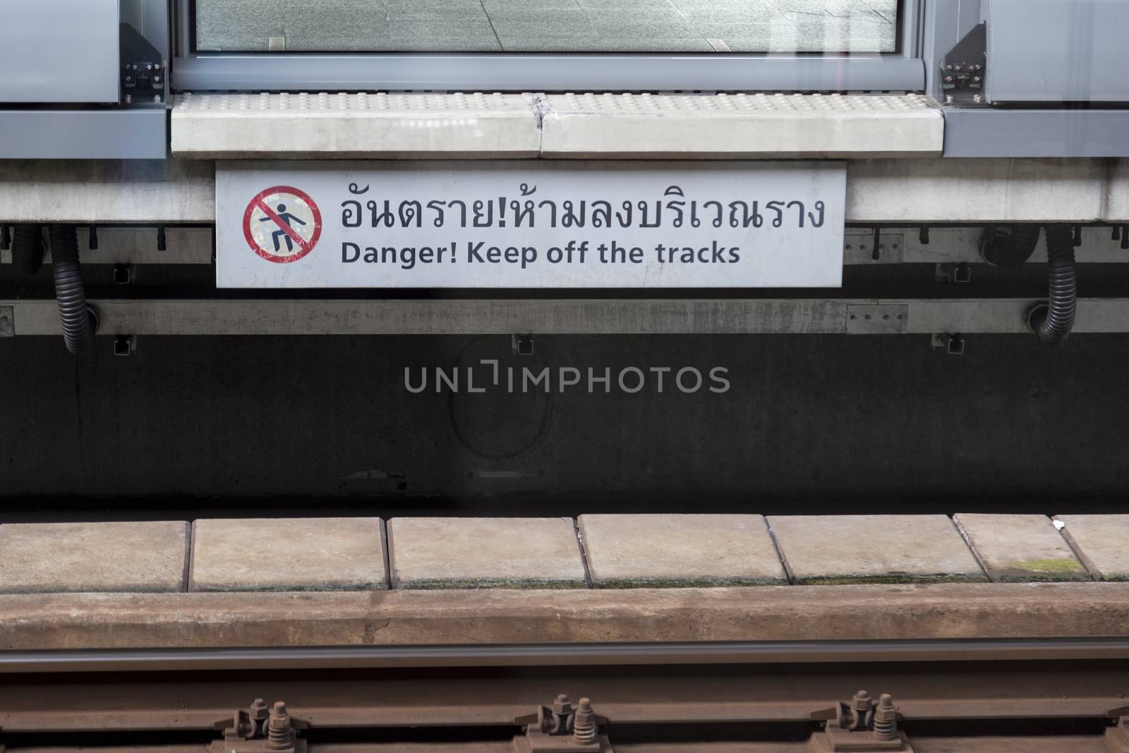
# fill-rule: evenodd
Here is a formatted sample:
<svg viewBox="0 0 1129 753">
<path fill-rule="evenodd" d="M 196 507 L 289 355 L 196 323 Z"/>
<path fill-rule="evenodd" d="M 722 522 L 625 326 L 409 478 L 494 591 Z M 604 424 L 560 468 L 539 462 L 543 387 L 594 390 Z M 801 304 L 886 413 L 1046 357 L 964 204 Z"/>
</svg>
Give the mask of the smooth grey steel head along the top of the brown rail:
<svg viewBox="0 0 1129 753">
<path fill-rule="evenodd" d="M 0 674 L 1129 659 L 1129 638 L 515 643 L 0 651 Z"/>
</svg>

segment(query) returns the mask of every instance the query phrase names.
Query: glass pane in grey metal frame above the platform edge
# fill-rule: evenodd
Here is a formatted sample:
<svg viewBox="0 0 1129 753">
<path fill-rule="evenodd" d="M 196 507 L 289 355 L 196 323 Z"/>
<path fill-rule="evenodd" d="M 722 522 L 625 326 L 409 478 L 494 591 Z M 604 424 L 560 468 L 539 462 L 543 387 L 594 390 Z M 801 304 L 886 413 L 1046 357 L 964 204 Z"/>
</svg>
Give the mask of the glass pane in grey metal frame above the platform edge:
<svg viewBox="0 0 1129 753">
<path fill-rule="evenodd" d="M 895 52 L 899 0 L 198 0 L 202 52 Z"/>
</svg>

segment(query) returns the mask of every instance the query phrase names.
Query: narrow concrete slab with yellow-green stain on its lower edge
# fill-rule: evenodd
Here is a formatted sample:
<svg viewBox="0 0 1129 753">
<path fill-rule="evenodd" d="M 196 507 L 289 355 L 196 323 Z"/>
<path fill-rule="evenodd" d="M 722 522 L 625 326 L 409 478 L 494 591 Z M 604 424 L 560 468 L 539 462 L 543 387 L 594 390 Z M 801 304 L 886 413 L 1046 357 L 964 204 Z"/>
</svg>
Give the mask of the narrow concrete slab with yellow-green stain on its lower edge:
<svg viewBox="0 0 1129 753">
<path fill-rule="evenodd" d="M 998 583 L 1089 580 L 1069 544 L 1043 515 L 961 513 L 953 522 Z"/>
</svg>

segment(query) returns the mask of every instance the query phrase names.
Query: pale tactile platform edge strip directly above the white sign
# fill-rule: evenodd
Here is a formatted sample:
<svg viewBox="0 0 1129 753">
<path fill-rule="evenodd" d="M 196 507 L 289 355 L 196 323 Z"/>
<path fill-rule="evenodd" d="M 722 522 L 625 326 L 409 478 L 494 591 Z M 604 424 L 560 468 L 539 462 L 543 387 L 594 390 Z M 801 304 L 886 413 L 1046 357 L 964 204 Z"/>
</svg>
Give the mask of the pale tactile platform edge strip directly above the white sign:
<svg viewBox="0 0 1129 753">
<path fill-rule="evenodd" d="M 917 94 L 187 93 L 173 154 L 198 158 L 939 156 Z"/>
</svg>

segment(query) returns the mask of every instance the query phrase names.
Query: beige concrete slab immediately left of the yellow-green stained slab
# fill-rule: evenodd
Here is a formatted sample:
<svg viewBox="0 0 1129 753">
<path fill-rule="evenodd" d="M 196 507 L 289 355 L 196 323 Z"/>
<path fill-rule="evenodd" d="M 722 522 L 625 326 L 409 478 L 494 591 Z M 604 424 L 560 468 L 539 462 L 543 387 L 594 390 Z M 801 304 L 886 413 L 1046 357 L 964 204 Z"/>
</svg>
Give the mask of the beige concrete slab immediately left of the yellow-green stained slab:
<svg viewBox="0 0 1129 753">
<path fill-rule="evenodd" d="M 768 522 L 799 584 L 987 580 L 944 515 L 774 515 Z"/>
</svg>

